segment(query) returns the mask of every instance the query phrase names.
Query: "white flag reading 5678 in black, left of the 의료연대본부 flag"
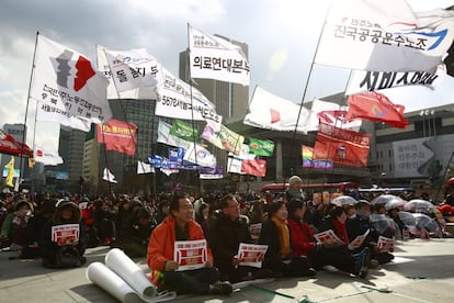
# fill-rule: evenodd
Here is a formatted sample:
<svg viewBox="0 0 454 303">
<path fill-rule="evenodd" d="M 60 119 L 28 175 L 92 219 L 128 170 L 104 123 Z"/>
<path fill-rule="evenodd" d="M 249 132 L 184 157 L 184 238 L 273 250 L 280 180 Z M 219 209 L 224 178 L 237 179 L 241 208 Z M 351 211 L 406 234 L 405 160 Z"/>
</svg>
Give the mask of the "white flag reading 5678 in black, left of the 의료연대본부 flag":
<svg viewBox="0 0 454 303">
<path fill-rule="evenodd" d="M 160 85 L 156 89 L 158 94 L 156 115 L 185 120 L 193 117 L 195 121 L 211 120 L 220 123 L 222 116 L 216 113 L 216 106 L 196 88 L 192 88 L 191 100 L 191 87 L 186 82 L 173 76 L 164 67 L 160 76 L 162 79 L 159 80 Z"/>
</svg>

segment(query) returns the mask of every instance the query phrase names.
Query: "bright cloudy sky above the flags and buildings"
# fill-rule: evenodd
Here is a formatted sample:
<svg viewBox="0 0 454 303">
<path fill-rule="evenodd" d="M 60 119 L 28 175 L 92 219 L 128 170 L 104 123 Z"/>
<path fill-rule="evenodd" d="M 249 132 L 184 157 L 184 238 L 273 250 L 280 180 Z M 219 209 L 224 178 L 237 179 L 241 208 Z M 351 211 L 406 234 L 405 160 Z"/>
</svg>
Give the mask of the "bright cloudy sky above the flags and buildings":
<svg viewBox="0 0 454 303">
<path fill-rule="evenodd" d="M 188 47 L 188 23 L 249 45 L 250 92 L 256 85 L 299 103 L 344 91 L 350 70 L 313 64 L 330 0 L 7 0 L 0 3 L 0 127 L 24 123 L 27 144 L 58 149 L 59 125 L 35 123 L 27 106 L 36 32 L 95 63 L 95 45 L 145 47 L 178 75 Z M 454 0 L 408 0 L 416 11 Z M 310 78 L 308 76 L 310 72 Z M 454 97 L 453 97 L 454 103 Z M 424 102 L 423 98 L 419 102 Z M 445 100 L 443 101 L 445 102 Z M 416 110 L 411 102 L 407 110 Z M 432 104 L 433 105 L 433 104 Z M 36 126 L 36 131 L 35 130 Z M 35 145 L 33 145 L 35 142 Z"/>
</svg>

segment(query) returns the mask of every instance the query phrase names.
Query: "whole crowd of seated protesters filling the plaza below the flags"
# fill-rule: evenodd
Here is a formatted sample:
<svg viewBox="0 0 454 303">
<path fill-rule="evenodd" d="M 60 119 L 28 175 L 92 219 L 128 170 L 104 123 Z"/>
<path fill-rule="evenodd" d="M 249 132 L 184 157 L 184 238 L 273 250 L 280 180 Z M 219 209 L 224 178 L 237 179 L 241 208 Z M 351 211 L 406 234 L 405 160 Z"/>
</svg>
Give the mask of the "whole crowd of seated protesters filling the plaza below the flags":
<svg viewBox="0 0 454 303">
<path fill-rule="evenodd" d="M 175 192 L 156 199 L 3 193 L 0 244 L 3 249 L 16 250 L 20 258 L 42 258 L 47 268 L 84 265 L 88 247 L 121 248 L 132 258 L 146 257 L 150 279 L 160 290 L 193 294 L 229 294 L 231 283 L 315 277 L 320 269 L 366 278 L 370 268 L 393 260 L 393 246 L 383 250 L 378 238 L 404 234 L 405 226 L 396 215 L 400 210 L 371 205 L 371 197 L 354 192 L 350 194 L 355 203 L 315 205 L 302 184 L 303 180 L 293 176 L 280 194 L 191 197 Z M 447 197 L 442 206 L 454 202 L 451 200 Z M 386 216 L 391 224 L 377 228 L 372 215 Z M 338 244 L 316 238 L 331 231 Z M 204 267 L 178 270 L 175 242 L 201 239 L 207 243 Z M 240 265 L 240 244 L 268 247 L 261 268 Z"/>
</svg>

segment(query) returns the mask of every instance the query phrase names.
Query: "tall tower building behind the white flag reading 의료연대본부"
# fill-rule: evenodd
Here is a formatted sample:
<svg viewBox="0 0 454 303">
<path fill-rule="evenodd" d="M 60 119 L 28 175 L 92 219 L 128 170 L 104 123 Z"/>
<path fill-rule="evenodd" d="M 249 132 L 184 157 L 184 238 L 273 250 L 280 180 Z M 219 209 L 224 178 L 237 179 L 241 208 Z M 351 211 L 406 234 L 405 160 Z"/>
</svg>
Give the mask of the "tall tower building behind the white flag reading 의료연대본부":
<svg viewBox="0 0 454 303">
<path fill-rule="evenodd" d="M 249 46 L 246 43 L 230 40 L 222 35 L 215 35 L 229 41 L 231 44 L 241 47 L 248 57 Z M 180 53 L 180 78 L 190 83 L 189 50 Z M 216 105 L 216 112 L 223 116 L 223 124 L 228 127 L 232 122 L 245 117 L 249 108 L 249 86 L 218 81 L 214 79 L 194 79 L 193 86 L 196 87 L 209 101 Z M 204 127 L 205 123 L 197 123 Z M 209 148 L 216 156 L 217 165 L 227 167 L 227 153 L 217 147 Z"/>
</svg>

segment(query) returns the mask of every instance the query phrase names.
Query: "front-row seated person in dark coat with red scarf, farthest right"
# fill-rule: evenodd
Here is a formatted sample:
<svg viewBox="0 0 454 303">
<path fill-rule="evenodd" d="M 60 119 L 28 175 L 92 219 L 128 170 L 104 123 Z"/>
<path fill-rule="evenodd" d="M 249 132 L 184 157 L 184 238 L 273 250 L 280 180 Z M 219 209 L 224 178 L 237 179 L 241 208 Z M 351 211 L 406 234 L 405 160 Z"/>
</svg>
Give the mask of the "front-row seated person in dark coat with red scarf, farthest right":
<svg viewBox="0 0 454 303">
<path fill-rule="evenodd" d="M 324 245 L 322 252 L 314 255 L 314 266 L 316 269 L 324 266 L 333 266 L 342 271 L 365 278 L 368 271 L 368 248 L 364 248 L 357 255 L 353 255 L 349 250 L 349 235 L 345 228 L 345 221 L 347 211 L 341 206 L 333 206 L 329 216 L 320 226 L 319 232 L 331 229 L 343 244 L 336 246 Z"/>
</svg>

